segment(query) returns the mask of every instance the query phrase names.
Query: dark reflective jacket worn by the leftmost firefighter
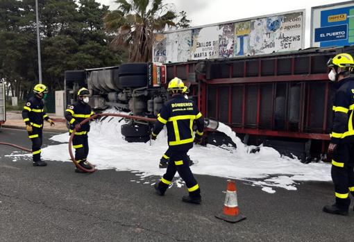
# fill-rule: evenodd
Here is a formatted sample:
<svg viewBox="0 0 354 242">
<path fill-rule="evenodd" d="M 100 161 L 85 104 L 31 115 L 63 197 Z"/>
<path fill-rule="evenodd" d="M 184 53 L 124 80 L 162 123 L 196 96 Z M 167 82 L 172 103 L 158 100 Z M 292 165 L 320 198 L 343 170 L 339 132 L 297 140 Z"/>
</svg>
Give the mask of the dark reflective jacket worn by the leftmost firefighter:
<svg viewBox="0 0 354 242">
<path fill-rule="evenodd" d="M 49 116 L 44 111 L 44 104 L 41 98 L 32 96 L 24 105 L 22 118 L 26 125 L 31 124 L 35 128 L 43 127 L 43 120 L 48 120 Z"/>
</svg>

